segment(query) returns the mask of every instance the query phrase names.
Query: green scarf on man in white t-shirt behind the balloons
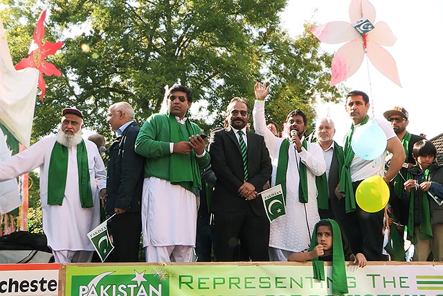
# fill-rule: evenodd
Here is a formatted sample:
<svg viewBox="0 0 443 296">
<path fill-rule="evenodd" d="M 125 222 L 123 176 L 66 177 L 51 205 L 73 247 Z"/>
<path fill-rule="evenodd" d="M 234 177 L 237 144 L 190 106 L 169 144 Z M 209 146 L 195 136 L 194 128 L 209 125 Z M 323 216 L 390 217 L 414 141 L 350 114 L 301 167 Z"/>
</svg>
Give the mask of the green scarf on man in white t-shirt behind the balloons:
<svg viewBox="0 0 443 296">
<path fill-rule="evenodd" d="M 369 120 L 369 116 L 366 115 L 365 118 L 359 123 L 359 125 L 363 125 L 367 123 Z M 352 134 L 354 134 L 354 125 L 351 125 L 350 132 L 347 133 L 345 147 L 343 148 L 344 153 L 344 163 L 343 168 L 341 169 L 340 176 L 340 193 L 345 195 L 345 209 L 346 213 L 350 213 L 355 211 L 355 196 L 354 196 L 354 188 L 352 187 L 352 179 L 351 179 L 351 163 L 352 159 L 354 159 L 354 150 L 352 150 L 351 140 Z"/>
</svg>

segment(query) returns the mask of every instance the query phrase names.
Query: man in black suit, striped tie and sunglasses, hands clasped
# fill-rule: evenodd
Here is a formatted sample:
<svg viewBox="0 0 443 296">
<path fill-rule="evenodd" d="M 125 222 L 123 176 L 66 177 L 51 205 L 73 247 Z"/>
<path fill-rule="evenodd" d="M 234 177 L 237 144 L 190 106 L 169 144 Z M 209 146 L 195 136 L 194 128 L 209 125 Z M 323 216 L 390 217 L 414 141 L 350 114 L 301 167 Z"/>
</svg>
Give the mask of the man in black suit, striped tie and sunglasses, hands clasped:
<svg viewBox="0 0 443 296">
<path fill-rule="evenodd" d="M 258 193 L 271 177 L 271 159 L 263 137 L 246 131 L 248 102 L 233 98 L 226 111 L 229 125 L 213 132 L 210 144 L 217 177 L 212 204 L 215 259 L 234 261 L 239 240 L 252 261 L 269 261 L 269 220 Z"/>
</svg>

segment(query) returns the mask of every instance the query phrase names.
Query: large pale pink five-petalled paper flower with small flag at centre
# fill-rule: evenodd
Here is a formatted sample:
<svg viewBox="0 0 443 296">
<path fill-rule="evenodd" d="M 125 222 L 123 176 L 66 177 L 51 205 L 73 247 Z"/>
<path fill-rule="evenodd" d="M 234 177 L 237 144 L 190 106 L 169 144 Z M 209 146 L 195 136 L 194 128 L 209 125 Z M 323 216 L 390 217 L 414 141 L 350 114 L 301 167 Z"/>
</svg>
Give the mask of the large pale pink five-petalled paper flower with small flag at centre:
<svg viewBox="0 0 443 296">
<path fill-rule="evenodd" d="M 331 87 L 352 76 L 361 66 L 367 54 L 384 76 L 401 87 L 397 64 L 383 46 L 392 46 L 397 38 L 388 25 L 375 21 L 375 8 L 368 0 L 351 0 L 349 16 L 351 23 L 331 21 L 311 28 L 318 40 L 328 44 L 348 42 L 341 46 L 332 60 Z"/>
</svg>

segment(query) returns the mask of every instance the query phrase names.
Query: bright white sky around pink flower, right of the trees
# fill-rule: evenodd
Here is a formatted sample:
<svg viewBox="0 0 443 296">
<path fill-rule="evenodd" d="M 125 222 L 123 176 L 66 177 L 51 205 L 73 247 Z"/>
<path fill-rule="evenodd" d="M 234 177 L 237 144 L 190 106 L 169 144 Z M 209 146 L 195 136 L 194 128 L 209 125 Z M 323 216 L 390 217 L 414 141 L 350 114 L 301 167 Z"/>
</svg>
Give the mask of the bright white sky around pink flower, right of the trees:
<svg viewBox="0 0 443 296">
<path fill-rule="evenodd" d="M 291 37 L 300 35 L 306 21 L 319 25 L 329 21 L 348 21 L 350 0 L 289 0 L 282 13 L 282 26 Z M 383 112 L 394 106 L 409 112 L 408 132 L 424 133 L 427 139 L 443 133 L 443 28 L 442 0 L 370 0 L 377 16 L 375 23 L 384 21 L 397 42 L 385 46 L 397 63 L 402 87 L 383 76 L 365 58 L 360 69 L 345 80 L 350 89 L 358 89 L 370 96 L 372 116 L 383 119 Z M 316 11 L 315 11 L 316 10 Z M 321 44 L 321 48 L 335 53 L 343 44 Z M 272 87 L 272 86 L 271 86 Z M 335 122 L 338 143 L 350 128 L 350 117 L 343 104 L 319 103 L 318 118 L 331 117 Z"/>
</svg>

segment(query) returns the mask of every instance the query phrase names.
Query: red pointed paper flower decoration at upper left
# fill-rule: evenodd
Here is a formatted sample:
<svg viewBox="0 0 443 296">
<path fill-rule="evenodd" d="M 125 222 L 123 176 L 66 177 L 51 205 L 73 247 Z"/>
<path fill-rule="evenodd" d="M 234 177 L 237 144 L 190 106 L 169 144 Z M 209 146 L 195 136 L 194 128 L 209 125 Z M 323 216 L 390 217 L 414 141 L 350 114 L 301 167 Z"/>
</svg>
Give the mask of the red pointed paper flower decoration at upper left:
<svg viewBox="0 0 443 296">
<path fill-rule="evenodd" d="M 42 12 L 40 15 L 37 24 L 35 25 L 35 30 L 33 34 L 33 42 L 30 44 L 28 58 L 22 59 L 18 64 L 15 65 L 16 70 L 25 69 L 27 67 L 36 68 L 39 70 L 39 89 L 42 90 L 42 95 L 40 99 L 43 101 L 44 94 L 46 92 L 46 82 L 44 82 L 43 73 L 46 76 L 60 76 L 62 72 L 57 69 L 54 64 L 49 62 L 45 62 L 44 58 L 48 55 L 53 55 L 56 51 L 58 51 L 63 46 L 63 42 L 56 42 L 55 44 L 52 42 L 45 42 L 42 45 L 42 40 L 44 37 L 44 19 L 46 18 L 46 10 Z"/>
</svg>

